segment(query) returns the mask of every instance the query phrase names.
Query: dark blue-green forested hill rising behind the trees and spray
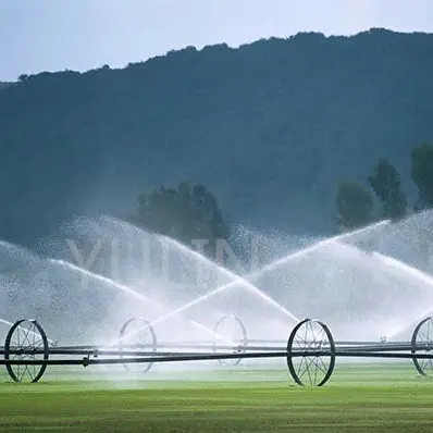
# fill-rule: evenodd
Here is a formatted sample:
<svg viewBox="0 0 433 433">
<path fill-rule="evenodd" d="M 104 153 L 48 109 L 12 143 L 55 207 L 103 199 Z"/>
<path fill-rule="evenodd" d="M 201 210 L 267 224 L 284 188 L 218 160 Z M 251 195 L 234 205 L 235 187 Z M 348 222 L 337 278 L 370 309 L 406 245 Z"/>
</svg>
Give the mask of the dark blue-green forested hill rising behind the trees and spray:
<svg viewBox="0 0 433 433">
<path fill-rule="evenodd" d="M 231 220 L 332 231 L 336 183 L 364 180 L 380 157 L 410 193 L 410 149 L 433 141 L 432 53 L 433 35 L 374 29 L 21 76 L 0 90 L 0 237 L 122 216 L 183 180 Z"/>
</svg>

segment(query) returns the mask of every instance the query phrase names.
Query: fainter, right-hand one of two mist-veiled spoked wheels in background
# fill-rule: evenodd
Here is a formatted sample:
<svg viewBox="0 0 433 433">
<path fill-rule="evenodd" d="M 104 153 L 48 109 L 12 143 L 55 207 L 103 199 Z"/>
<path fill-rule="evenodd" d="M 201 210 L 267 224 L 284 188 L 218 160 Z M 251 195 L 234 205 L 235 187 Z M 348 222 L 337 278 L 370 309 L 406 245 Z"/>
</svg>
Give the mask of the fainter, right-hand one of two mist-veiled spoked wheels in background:
<svg viewBox="0 0 433 433">
<path fill-rule="evenodd" d="M 245 354 L 248 345 L 247 329 L 237 316 L 224 316 L 214 327 L 215 341 L 213 351 L 216 352 L 221 347 L 232 347 L 234 354 Z M 242 358 L 219 359 L 220 366 L 238 366 Z"/>
</svg>

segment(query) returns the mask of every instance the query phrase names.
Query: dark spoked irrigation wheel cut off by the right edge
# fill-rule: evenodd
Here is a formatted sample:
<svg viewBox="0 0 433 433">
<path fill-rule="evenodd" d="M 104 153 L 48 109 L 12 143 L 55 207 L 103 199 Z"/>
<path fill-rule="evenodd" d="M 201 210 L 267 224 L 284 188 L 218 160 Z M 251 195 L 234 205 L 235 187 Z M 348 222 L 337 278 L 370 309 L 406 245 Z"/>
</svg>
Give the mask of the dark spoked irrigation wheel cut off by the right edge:
<svg viewBox="0 0 433 433">
<path fill-rule="evenodd" d="M 421 320 L 413 330 L 411 352 L 433 356 L 433 318 Z M 421 375 L 433 376 L 433 359 L 415 357 L 412 361 Z"/>
</svg>

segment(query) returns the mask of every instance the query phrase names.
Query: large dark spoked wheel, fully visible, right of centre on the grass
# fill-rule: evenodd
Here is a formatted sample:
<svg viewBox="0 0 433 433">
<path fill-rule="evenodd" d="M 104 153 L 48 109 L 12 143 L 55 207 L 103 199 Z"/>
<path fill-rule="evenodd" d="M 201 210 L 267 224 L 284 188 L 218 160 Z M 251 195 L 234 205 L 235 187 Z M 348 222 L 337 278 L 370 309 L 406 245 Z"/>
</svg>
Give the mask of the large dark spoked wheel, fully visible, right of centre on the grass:
<svg viewBox="0 0 433 433">
<path fill-rule="evenodd" d="M 335 343 L 327 326 L 312 319 L 299 322 L 287 342 L 287 367 L 301 386 L 322 386 L 335 367 Z"/>
</svg>

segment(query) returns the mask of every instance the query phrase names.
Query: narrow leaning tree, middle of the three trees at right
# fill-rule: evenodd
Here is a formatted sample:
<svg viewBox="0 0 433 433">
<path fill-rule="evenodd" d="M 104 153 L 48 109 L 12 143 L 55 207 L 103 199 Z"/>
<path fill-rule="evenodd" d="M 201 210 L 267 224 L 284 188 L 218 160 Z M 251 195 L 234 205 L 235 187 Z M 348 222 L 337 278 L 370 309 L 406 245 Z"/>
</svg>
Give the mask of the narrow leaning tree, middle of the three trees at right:
<svg viewBox="0 0 433 433">
<path fill-rule="evenodd" d="M 382 216 L 395 221 L 406 215 L 407 199 L 394 165 L 386 159 L 380 159 L 368 182 L 382 202 Z"/>
</svg>

